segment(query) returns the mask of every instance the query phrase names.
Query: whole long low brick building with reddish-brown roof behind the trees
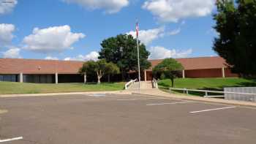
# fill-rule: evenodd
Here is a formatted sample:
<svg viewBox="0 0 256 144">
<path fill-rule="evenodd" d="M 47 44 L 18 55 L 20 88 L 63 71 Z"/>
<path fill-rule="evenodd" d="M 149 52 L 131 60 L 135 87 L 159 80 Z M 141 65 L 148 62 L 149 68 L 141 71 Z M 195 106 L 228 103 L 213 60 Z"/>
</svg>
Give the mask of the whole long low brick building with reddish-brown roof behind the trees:
<svg viewBox="0 0 256 144">
<path fill-rule="evenodd" d="M 177 58 L 184 66 L 183 77 L 237 77 L 220 57 Z M 149 60 L 152 67 L 162 60 Z M 83 83 L 78 74 L 83 61 L 56 61 L 0 58 L 0 81 L 25 83 Z M 144 71 L 143 80 L 152 79 L 152 67 Z"/>
</svg>

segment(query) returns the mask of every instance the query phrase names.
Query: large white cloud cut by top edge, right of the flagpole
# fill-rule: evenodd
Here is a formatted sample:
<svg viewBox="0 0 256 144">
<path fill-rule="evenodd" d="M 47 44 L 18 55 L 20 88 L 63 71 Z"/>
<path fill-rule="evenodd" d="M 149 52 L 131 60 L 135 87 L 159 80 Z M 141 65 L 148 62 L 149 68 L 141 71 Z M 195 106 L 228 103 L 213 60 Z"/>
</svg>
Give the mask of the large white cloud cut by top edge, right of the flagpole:
<svg viewBox="0 0 256 144">
<path fill-rule="evenodd" d="M 147 0 L 143 9 L 150 11 L 162 22 L 203 17 L 211 14 L 215 0 Z"/>
</svg>

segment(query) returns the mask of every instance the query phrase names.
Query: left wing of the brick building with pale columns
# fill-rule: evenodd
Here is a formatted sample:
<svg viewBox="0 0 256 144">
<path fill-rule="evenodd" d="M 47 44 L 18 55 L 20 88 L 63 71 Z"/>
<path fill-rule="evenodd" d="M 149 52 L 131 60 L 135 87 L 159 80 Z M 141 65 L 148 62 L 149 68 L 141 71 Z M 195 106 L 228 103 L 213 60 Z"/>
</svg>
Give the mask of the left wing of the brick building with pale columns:
<svg viewBox="0 0 256 144">
<path fill-rule="evenodd" d="M 0 80 L 26 83 L 83 83 L 82 61 L 0 58 Z"/>
</svg>

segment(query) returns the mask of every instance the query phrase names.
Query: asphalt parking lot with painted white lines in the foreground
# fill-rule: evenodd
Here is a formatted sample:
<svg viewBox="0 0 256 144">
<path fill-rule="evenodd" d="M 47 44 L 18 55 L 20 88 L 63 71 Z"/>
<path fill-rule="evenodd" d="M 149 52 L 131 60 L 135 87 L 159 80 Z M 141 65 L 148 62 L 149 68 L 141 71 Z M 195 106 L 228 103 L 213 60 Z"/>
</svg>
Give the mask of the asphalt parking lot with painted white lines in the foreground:
<svg viewBox="0 0 256 144">
<path fill-rule="evenodd" d="M 1 109 L 0 144 L 256 143 L 249 107 L 96 94 L 1 98 Z"/>
</svg>

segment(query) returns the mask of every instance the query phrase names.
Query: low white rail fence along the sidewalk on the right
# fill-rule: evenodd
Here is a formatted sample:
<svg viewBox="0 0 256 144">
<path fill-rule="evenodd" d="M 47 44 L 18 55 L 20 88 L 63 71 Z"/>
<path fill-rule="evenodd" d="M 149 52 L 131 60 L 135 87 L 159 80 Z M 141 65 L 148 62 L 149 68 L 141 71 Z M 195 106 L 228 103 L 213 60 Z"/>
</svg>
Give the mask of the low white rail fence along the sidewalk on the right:
<svg viewBox="0 0 256 144">
<path fill-rule="evenodd" d="M 256 102 L 253 101 L 254 99 L 256 99 L 256 94 L 252 94 L 252 93 L 241 93 L 241 92 L 233 92 L 233 91 L 208 91 L 208 90 L 197 90 L 197 89 L 187 89 L 187 88 L 170 88 L 170 93 L 172 91 L 183 91 L 184 94 L 189 94 L 189 91 L 197 91 L 197 92 L 203 92 L 205 94 L 204 97 L 223 97 L 225 98 L 225 96 L 227 94 L 236 94 L 239 96 L 250 96 L 251 99 L 249 101 L 251 102 Z M 221 96 L 209 96 L 208 94 L 223 94 Z M 253 97 L 253 98 L 252 98 Z M 226 99 L 226 98 L 225 98 Z M 234 99 L 234 100 L 239 100 L 239 99 Z"/>
</svg>

